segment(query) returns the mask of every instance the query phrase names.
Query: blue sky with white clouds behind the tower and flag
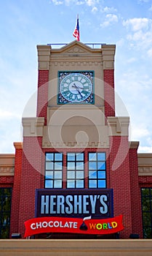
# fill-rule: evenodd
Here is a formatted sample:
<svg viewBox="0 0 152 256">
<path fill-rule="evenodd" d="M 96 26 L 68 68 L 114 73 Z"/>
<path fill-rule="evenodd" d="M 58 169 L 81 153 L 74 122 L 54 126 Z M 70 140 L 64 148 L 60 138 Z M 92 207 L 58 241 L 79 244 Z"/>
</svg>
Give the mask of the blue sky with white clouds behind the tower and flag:
<svg viewBox="0 0 152 256">
<path fill-rule="evenodd" d="M 7 0 L 0 3 L 0 153 L 14 153 L 37 88 L 36 45 L 68 43 L 79 13 L 81 42 L 116 44 L 115 88 L 130 139 L 152 152 L 152 1 Z M 116 114 L 124 113 L 116 102 Z M 31 116 L 34 116 L 34 108 Z"/>
</svg>

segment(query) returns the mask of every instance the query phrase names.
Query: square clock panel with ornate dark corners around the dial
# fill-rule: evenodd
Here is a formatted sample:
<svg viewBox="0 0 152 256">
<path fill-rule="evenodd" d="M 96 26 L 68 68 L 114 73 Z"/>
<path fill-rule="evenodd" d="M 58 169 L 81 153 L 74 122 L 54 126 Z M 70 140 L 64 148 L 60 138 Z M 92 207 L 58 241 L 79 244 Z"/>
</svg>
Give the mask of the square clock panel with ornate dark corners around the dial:
<svg viewBox="0 0 152 256">
<path fill-rule="evenodd" d="M 93 103 L 93 72 L 60 72 L 58 103 Z"/>
</svg>

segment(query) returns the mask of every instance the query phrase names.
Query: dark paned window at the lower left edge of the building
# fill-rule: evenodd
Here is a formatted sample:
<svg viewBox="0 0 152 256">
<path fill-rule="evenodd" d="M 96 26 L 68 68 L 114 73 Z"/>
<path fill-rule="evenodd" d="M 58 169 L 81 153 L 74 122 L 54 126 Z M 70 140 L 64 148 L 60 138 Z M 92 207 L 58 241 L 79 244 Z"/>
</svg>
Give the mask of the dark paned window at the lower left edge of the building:
<svg viewBox="0 0 152 256">
<path fill-rule="evenodd" d="M 0 188 L 0 238 L 9 238 L 11 188 Z"/>
</svg>

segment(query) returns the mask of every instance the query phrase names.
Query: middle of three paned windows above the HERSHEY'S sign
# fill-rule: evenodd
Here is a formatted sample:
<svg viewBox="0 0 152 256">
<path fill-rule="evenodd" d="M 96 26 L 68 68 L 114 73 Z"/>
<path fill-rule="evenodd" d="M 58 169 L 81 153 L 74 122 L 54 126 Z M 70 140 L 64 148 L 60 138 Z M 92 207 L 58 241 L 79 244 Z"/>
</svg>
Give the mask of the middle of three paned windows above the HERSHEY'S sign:
<svg viewBox="0 0 152 256">
<path fill-rule="evenodd" d="M 67 154 L 67 188 L 84 188 L 84 153 Z"/>
</svg>

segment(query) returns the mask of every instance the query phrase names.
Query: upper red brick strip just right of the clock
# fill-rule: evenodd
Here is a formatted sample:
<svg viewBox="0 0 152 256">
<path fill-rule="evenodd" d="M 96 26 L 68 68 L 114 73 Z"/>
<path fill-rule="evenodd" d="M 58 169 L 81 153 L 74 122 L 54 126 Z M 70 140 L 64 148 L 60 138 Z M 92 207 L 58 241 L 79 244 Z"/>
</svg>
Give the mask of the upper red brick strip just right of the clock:
<svg viewBox="0 0 152 256">
<path fill-rule="evenodd" d="M 104 69 L 104 98 L 105 98 L 105 118 L 115 116 L 114 102 L 114 70 Z"/>
</svg>

